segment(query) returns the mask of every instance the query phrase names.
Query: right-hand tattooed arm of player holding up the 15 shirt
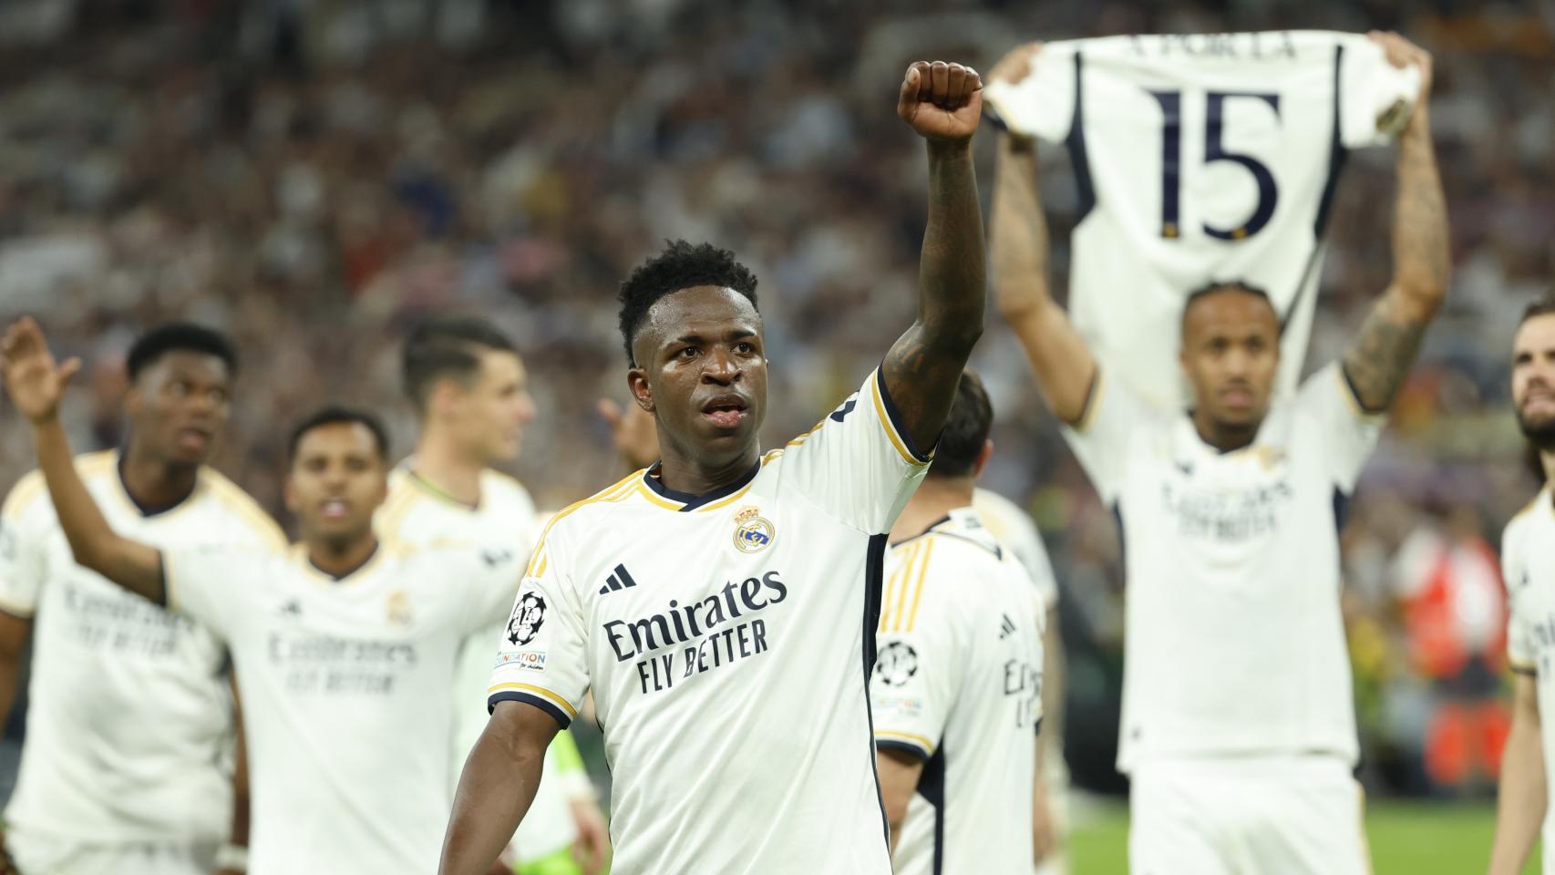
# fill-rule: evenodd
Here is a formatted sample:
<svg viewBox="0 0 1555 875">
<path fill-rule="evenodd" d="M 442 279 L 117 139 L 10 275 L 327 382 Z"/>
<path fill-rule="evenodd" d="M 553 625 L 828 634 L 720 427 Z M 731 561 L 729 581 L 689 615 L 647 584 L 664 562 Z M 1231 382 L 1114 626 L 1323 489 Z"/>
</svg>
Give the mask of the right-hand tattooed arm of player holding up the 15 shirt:
<svg viewBox="0 0 1555 875">
<path fill-rule="evenodd" d="M 1362 407 L 1386 410 L 1409 376 L 1426 326 L 1448 294 L 1452 255 L 1448 210 L 1431 145 L 1431 54 L 1395 33 L 1372 34 L 1387 59 L 1420 67 L 1420 98 L 1398 143 L 1393 281 L 1345 353 L 1345 378 Z"/>
</svg>

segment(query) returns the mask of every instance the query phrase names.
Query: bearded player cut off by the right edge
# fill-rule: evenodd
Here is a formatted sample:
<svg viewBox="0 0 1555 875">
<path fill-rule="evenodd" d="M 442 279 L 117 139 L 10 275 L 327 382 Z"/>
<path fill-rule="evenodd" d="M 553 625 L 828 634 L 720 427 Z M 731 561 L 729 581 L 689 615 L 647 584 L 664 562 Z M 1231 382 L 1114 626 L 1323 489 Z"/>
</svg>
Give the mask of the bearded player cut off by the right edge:
<svg viewBox="0 0 1555 875">
<path fill-rule="evenodd" d="M 1544 836 L 1543 872 L 1555 872 L 1555 292 L 1529 306 L 1511 345 L 1511 404 L 1544 488 L 1507 524 L 1501 570 L 1511 619 L 1507 653 L 1516 673 L 1511 734 L 1501 760 L 1501 800 L 1490 875 L 1518 875 Z"/>
</svg>

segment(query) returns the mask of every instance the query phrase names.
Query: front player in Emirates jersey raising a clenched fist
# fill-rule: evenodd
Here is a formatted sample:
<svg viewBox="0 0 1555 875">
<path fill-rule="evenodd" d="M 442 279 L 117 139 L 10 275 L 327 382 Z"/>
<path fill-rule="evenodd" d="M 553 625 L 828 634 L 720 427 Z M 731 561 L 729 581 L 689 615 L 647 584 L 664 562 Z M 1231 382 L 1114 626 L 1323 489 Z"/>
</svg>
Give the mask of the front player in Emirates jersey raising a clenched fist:
<svg viewBox="0 0 1555 875">
<path fill-rule="evenodd" d="M 930 159 L 917 319 L 787 446 L 757 443 L 767 353 L 732 253 L 680 241 L 622 284 L 628 387 L 662 457 L 541 536 L 445 875 L 485 872 L 589 688 L 616 875 L 891 872 L 868 681 L 886 533 L 983 329 L 980 92 L 961 65 L 908 68 L 897 112 Z"/>
</svg>

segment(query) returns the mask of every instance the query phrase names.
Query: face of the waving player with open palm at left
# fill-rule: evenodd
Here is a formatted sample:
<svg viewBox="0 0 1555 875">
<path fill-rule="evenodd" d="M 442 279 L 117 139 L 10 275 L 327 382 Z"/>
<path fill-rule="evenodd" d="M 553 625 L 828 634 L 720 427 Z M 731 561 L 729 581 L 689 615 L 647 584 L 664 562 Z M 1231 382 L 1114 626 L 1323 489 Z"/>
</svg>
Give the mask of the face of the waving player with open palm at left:
<svg viewBox="0 0 1555 875">
<path fill-rule="evenodd" d="M 372 535 L 373 511 L 389 493 L 373 432 L 361 423 L 319 426 L 297 443 L 286 476 L 286 510 L 306 542 Z"/>
</svg>

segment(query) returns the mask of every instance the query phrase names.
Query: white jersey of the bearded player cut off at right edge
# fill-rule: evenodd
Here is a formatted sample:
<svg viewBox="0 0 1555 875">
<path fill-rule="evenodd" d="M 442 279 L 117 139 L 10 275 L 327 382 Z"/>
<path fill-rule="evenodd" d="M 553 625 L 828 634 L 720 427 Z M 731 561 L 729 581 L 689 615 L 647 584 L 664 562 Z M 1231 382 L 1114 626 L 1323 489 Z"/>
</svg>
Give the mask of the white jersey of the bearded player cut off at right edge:
<svg viewBox="0 0 1555 875">
<path fill-rule="evenodd" d="M 1546 485 L 1501 536 L 1511 670 L 1538 679 L 1544 780 L 1555 786 L 1555 494 Z M 1544 814 L 1544 872 L 1555 872 L 1555 808 Z"/>
</svg>

